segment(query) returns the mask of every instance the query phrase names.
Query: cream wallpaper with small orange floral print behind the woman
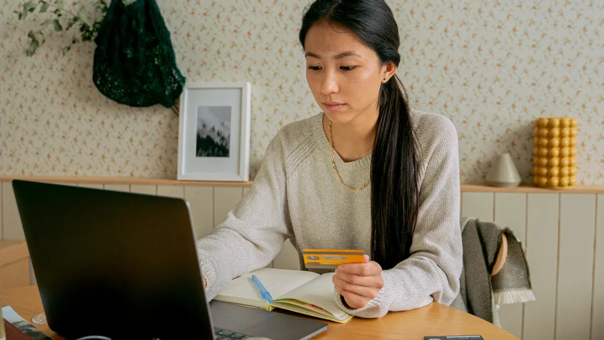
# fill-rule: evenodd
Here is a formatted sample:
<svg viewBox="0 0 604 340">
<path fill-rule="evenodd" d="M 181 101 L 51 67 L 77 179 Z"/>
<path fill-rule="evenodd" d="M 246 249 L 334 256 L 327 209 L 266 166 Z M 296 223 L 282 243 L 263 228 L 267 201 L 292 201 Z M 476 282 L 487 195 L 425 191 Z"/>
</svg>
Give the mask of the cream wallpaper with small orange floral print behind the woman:
<svg viewBox="0 0 604 340">
<path fill-rule="evenodd" d="M 318 113 L 297 41 L 307 0 L 158 0 L 189 81 L 252 83 L 250 167 L 286 123 Z M 399 76 L 412 105 L 449 117 L 462 183 L 481 183 L 510 152 L 530 181 L 536 117 L 579 121 L 580 184 L 604 184 L 604 2 L 390 0 L 401 34 Z M 92 83 L 94 44 L 60 50 L 49 32 L 33 57 L 0 0 L 0 174 L 176 177 L 178 116 L 131 108 Z M 89 8 L 92 11 L 92 5 Z"/>
</svg>

